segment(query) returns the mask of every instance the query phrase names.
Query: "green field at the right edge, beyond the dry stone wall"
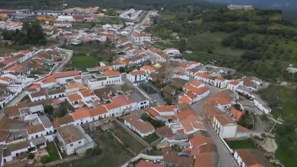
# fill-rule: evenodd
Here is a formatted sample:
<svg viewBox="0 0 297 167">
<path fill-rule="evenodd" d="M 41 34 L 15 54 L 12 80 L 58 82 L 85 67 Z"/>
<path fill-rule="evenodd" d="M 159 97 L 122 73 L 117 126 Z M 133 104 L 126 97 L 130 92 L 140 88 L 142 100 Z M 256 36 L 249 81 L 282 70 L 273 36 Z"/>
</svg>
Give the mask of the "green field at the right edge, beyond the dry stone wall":
<svg viewBox="0 0 297 167">
<path fill-rule="evenodd" d="M 288 87 L 278 87 L 282 104 L 283 119 L 297 125 L 297 91 Z"/>
</svg>

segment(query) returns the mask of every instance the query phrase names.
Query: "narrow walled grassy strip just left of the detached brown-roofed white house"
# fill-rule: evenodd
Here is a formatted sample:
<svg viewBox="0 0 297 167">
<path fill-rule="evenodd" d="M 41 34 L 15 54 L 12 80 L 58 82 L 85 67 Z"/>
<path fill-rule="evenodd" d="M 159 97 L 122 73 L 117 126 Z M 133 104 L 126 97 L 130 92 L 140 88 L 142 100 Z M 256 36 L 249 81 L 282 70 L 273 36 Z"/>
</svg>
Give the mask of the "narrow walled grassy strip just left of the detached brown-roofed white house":
<svg viewBox="0 0 297 167">
<path fill-rule="evenodd" d="M 133 138 L 129 133 L 127 133 L 120 125 L 114 123 L 115 129 L 113 134 L 121 139 L 125 144 L 129 145 L 129 148 L 132 149 L 135 153 L 139 153 L 141 150 L 145 149 L 145 146 L 142 145 L 139 141 Z"/>
</svg>

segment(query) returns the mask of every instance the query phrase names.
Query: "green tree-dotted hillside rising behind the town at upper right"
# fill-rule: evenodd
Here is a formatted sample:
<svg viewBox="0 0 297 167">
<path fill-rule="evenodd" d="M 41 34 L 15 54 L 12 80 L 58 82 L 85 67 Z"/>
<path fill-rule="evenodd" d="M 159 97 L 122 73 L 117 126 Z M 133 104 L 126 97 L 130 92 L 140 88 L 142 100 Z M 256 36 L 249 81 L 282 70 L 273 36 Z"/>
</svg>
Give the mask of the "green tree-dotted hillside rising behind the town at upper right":
<svg viewBox="0 0 297 167">
<path fill-rule="evenodd" d="M 165 10 L 148 31 L 162 39 L 172 39 L 171 33 L 177 32 L 187 41 L 183 50 L 193 51 L 184 52 L 186 59 L 213 62 L 271 82 L 297 81 L 297 75 L 285 70 L 297 64 L 297 28 L 282 21 L 281 11 L 187 8 Z M 179 47 L 178 42 L 156 44 Z"/>
</svg>

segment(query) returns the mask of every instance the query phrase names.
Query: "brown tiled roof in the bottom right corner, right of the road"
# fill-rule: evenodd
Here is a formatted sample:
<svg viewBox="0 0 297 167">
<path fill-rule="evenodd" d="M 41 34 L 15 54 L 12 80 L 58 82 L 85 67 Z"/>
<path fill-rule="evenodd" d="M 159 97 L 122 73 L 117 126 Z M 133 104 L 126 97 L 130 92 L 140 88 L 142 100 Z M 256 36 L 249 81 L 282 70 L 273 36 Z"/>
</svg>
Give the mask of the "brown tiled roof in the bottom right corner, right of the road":
<svg viewBox="0 0 297 167">
<path fill-rule="evenodd" d="M 247 167 L 265 166 L 272 167 L 266 157 L 256 149 L 236 149 L 236 152 L 241 157 Z"/>
</svg>

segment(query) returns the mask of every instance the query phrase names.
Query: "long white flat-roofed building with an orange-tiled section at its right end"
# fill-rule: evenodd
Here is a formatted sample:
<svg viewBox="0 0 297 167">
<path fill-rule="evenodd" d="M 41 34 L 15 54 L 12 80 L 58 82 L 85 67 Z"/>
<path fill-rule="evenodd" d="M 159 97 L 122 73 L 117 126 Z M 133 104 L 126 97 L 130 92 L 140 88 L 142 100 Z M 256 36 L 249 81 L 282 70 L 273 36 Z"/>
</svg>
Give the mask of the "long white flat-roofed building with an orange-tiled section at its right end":
<svg viewBox="0 0 297 167">
<path fill-rule="evenodd" d="M 87 81 L 87 84 L 91 89 L 98 89 L 100 87 L 121 83 L 121 73 L 113 70 L 106 70 L 102 74 L 92 75 Z"/>
</svg>

